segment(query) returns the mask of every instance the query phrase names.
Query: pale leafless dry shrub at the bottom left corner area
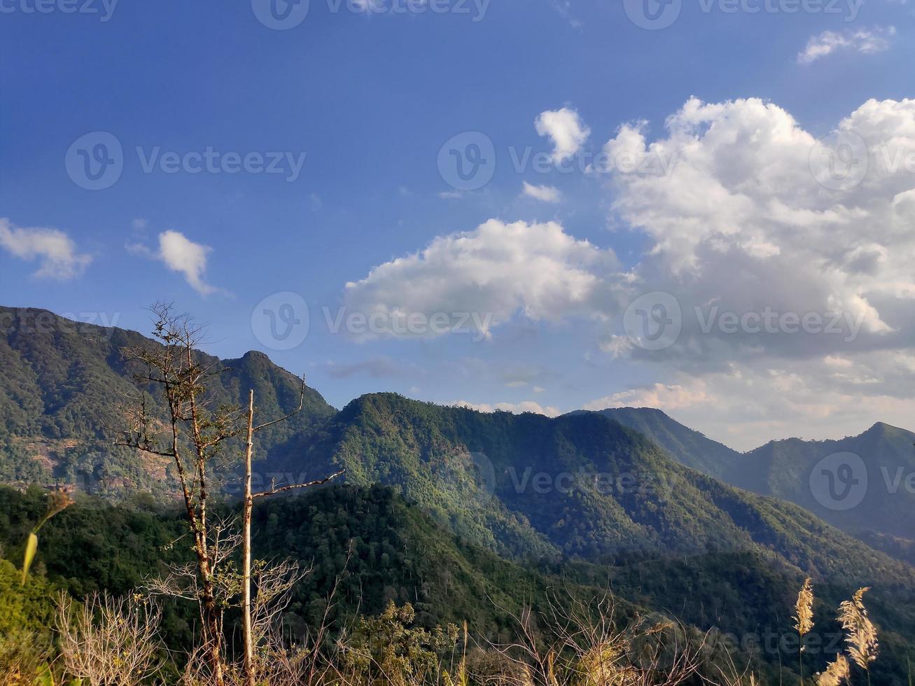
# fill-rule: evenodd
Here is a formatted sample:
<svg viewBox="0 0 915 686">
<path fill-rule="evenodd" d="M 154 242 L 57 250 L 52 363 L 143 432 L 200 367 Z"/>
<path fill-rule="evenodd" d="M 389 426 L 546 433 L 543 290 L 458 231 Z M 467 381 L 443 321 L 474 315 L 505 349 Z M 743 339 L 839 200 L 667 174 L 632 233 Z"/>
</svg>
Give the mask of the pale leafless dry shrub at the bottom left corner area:
<svg viewBox="0 0 915 686">
<path fill-rule="evenodd" d="M 74 606 L 61 594 L 57 628 L 64 670 L 89 686 L 143 682 L 160 667 L 161 620 L 161 608 L 149 598 L 96 593 Z"/>
</svg>

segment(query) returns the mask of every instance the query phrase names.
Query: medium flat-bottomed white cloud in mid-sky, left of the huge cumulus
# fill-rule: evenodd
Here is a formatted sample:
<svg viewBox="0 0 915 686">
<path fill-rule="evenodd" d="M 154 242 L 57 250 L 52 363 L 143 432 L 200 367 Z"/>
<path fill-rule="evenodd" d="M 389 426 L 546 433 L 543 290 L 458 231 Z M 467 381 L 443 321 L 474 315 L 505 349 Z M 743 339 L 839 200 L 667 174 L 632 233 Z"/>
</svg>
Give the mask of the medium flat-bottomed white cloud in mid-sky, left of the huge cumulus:
<svg viewBox="0 0 915 686">
<path fill-rule="evenodd" d="M 613 252 L 576 240 L 557 223 L 490 220 L 375 267 L 347 284 L 344 300 L 350 311 L 377 321 L 469 313 L 463 326 L 489 336 L 512 316 L 558 322 L 599 315 L 612 302 L 605 277 L 617 270 Z"/>
</svg>

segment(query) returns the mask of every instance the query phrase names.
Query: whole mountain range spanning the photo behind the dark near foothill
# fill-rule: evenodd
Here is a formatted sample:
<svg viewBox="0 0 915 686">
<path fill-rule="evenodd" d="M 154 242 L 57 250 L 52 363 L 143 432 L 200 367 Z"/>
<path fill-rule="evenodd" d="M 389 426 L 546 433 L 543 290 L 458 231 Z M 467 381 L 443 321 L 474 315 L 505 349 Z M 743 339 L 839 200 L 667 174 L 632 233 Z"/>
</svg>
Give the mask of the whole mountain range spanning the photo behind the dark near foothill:
<svg viewBox="0 0 915 686">
<path fill-rule="evenodd" d="M 42 310 L 3 308 L 0 321 L 10 323 L 0 336 L 0 479 L 20 488 L 76 482 L 115 502 L 136 492 L 167 496 L 170 466 L 113 447 L 124 402 L 136 393 L 121 349 L 156 344 Z M 207 361 L 217 372 L 210 402 L 241 403 L 253 388 L 264 420 L 295 409 L 301 381 L 264 354 Z M 345 468 L 347 486 L 339 488 L 355 490 L 278 498 L 259 525 L 271 531 L 272 552 L 298 551 L 303 520 L 338 522 L 333 513 L 350 512 L 322 530 L 339 531 L 336 547 L 314 542 L 319 532 L 312 531 L 298 554 L 317 552 L 316 562 L 339 568 L 346 558 L 341 541 L 352 536 L 374 551 L 366 552 L 370 558 L 387 550 L 385 562 L 378 560 L 389 569 L 397 546 L 385 548 L 378 537 L 393 535 L 411 564 L 431 556 L 421 564 L 425 570 L 434 569 L 436 554 L 457 561 L 452 566 L 468 587 L 484 578 L 481 567 L 516 581 L 528 570 L 534 575 L 518 582 L 528 588 L 551 578 L 611 584 L 635 606 L 675 609 L 699 630 L 718 627 L 738 637 L 790 627 L 805 576 L 818 584 L 823 611 L 870 585 L 886 654 L 905 664 L 915 636 L 915 567 L 905 562 L 906 534 L 915 531 L 907 525 L 911 511 L 904 511 L 910 501 L 881 498 L 873 488 L 858 507 L 836 510 L 805 484 L 813 467 L 836 452 L 860 456 L 867 477 L 880 466 L 909 469 L 906 444 L 913 439 L 877 424 L 842 441 L 791 439 L 740 454 L 655 410 L 548 418 L 373 393 L 338 412 L 309 388 L 302 413 L 259 436 L 255 479 L 300 481 Z M 229 501 L 237 483 L 230 463 L 221 470 Z M 365 495 L 374 488 L 393 499 Z M 387 512 L 387 529 L 360 529 L 354 510 L 371 510 L 376 523 Z M 454 542 L 442 548 L 435 541 L 443 537 Z M 363 567 L 369 579 L 371 565 Z M 372 582 L 382 595 L 421 595 L 422 575 L 387 574 L 391 584 Z M 899 674 L 884 676 L 882 682 L 904 682 Z"/>
</svg>

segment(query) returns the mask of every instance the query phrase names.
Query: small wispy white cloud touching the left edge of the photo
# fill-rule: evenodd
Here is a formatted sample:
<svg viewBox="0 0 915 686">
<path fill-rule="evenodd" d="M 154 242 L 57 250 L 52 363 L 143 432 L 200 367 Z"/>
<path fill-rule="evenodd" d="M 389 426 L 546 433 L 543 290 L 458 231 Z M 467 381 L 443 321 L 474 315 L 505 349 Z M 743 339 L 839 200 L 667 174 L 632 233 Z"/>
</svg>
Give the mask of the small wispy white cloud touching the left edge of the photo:
<svg viewBox="0 0 915 686">
<path fill-rule="evenodd" d="M 59 229 L 17 227 L 0 219 L 0 247 L 26 262 L 38 260 L 39 278 L 65 280 L 79 276 L 92 255 L 77 252 L 76 244 Z"/>
</svg>

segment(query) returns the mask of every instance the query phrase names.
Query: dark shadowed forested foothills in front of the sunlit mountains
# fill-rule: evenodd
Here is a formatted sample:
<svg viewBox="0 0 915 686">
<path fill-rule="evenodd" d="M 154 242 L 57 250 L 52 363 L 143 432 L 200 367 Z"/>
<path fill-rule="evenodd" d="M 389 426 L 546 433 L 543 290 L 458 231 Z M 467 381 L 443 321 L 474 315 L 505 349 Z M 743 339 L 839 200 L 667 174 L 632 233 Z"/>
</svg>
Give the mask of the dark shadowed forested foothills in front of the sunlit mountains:
<svg viewBox="0 0 915 686">
<path fill-rule="evenodd" d="M 0 488 L 0 551 L 6 560 L 19 563 L 27 531 L 44 508 L 38 489 L 18 493 Z M 732 658 L 751 664 L 763 682 L 795 679 L 790 648 L 758 648 L 767 645 L 766 637 L 791 631 L 790 608 L 802 576 L 774 567 L 758 553 L 709 552 L 612 565 L 522 565 L 456 537 L 425 509 L 382 487 L 335 486 L 270 498 L 254 510 L 253 529 L 255 557 L 293 559 L 310 568 L 284 615 L 291 637 L 318 625 L 335 586 L 330 617 L 338 627 L 356 612 L 377 614 L 393 600 L 411 603 L 421 626 L 467 620 L 484 644 L 510 641 L 516 627 L 509 613 L 517 614 L 522 606 L 546 610 L 550 595 L 568 602 L 570 597 L 601 595 L 610 587 L 620 600 L 622 616 L 675 616 L 694 627 L 696 637 L 710 630 L 714 645 L 726 645 Z M 12 565 L 0 561 L 0 603 L 8 596 L 28 616 L 41 617 L 50 615 L 55 587 L 73 595 L 101 588 L 127 593 L 160 572 L 164 560 L 184 559 L 188 550 L 169 544 L 183 531 L 181 517 L 168 510 L 80 498 L 42 529 L 28 597 L 19 592 Z M 4 575 L 11 580 L 6 595 Z M 825 645 L 838 632 L 826 617 L 843 595 L 828 584 L 816 590 L 818 633 Z M 901 686 L 904 672 L 891 660 L 904 655 L 905 644 L 892 627 L 905 625 L 876 595 L 870 606 L 886 645 L 875 679 Z M 236 618 L 230 611 L 227 621 Z M 37 624 L 39 636 L 48 639 L 49 626 Z M 167 604 L 170 645 L 188 645 L 194 626 L 193 606 Z M 711 645 L 705 659 L 720 657 Z M 813 649 L 808 669 L 822 670 L 829 658 L 827 652 Z"/>
</svg>

